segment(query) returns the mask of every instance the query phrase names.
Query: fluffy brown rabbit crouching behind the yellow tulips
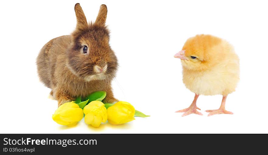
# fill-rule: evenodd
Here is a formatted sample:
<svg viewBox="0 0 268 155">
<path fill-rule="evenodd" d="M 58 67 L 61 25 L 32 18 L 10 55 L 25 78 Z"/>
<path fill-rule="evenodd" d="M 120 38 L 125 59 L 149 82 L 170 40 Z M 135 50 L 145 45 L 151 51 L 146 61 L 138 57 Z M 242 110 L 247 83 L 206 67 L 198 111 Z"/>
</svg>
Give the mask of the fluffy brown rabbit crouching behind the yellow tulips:
<svg viewBox="0 0 268 155">
<path fill-rule="evenodd" d="M 39 77 L 52 89 L 58 106 L 94 91 L 106 91 L 104 102 L 116 102 L 111 81 L 118 63 L 105 26 L 107 7 L 101 5 L 96 21 L 89 24 L 79 3 L 74 9 L 75 31 L 50 40 L 41 49 L 37 57 Z"/>
</svg>

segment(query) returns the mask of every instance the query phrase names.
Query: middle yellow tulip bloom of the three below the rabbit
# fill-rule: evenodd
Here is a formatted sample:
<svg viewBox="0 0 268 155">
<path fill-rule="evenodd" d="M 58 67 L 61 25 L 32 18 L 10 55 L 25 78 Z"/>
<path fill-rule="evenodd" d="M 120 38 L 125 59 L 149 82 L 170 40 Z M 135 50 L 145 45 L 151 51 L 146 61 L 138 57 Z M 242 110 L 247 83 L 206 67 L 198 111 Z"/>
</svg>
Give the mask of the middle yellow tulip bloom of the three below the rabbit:
<svg viewBox="0 0 268 155">
<path fill-rule="evenodd" d="M 99 127 L 101 122 L 107 121 L 107 110 L 101 101 L 92 101 L 84 108 L 85 123 Z"/>
</svg>

